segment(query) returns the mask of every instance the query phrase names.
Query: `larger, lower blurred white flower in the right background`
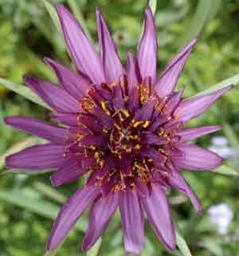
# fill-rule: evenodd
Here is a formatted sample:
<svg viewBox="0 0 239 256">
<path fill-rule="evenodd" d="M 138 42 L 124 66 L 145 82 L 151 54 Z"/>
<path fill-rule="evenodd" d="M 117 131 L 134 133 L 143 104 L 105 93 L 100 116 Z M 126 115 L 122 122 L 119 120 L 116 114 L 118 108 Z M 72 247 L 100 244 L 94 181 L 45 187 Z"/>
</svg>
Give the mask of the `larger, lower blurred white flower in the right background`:
<svg viewBox="0 0 239 256">
<path fill-rule="evenodd" d="M 220 203 L 211 206 L 207 212 L 211 223 L 217 225 L 218 233 L 226 234 L 228 232 L 229 224 L 233 219 L 233 211 L 231 211 L 229 205 Z"/>
</svg>

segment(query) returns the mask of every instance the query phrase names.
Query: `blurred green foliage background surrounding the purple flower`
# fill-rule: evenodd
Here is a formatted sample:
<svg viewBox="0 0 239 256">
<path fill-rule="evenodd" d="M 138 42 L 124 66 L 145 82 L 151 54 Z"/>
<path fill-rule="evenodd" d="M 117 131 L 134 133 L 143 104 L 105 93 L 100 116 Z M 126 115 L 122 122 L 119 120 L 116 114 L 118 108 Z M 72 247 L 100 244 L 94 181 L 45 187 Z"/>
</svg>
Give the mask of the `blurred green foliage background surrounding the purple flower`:
<svg viewBox="0 0 239 256">
<path fill-rule="evenodd" d="M 77 18 L 84 19 L 84 26 L 96 44 L 95 6 L 100 6 L 112 29 L 113 37 L 123 62 L 127 50 L 135 51 L 142 30 L 143 8 L 146 0 L 52 0 L 73 7 Z M 208 9 L 210 8 L 210 9 Z M 200 41 L 180 78 L 178 85 L 186 85 L 186 95 L 198 93 L 210 85 L 232 77 L 239 70 L 239 1 L 238 0 L 160 0 L 155 13 L 159 32 L 159 72 L 182 45 L 197 35 Z M 0 77 L 22 84 L 22 75 L 29 73 L 55 80 L 53 73 L 43 63 L 44 56 L 53 57 L 71 65 L 65 43 L 45 10 L 42 0 L 0 1 Z M 7 91 L 0 85 L 0 118 L 24 114 L 49 119 L 45 108 Z M 233 89 L 206 115 L 193 120 L 192 126 L 221 124 L 232 147 L 239 147 L 239 91 Z M 1 156 L 6 151 L 33 144 L 34 139 L 0 123 Z M 220 133 L 219 133 L 220 134 Z M 221 132 L 221 135 L 223 132 Z M 19 142 L 25 140 L 23 144 Z M 209 146 L 210 139 L 198 140 Z M 12 148 L 13 147 L 13 148 Z M 238 148 L 237 148 L 238 149 Z M 238 164 L 239 166 L 239 164 Z M 0 167 L 4 170 L 3 158 Z M 237 179 L 216 173 L 186 173 L 205 208 L 211 204 L 229 203 L 233 212 L 239 209 Z M 50 188 L 48 175 L 6 175 L 0 179 L 0 256 L 38 256 L 45 253 L 45 241 L 57 207 L 72 194 L 79 184 Z M 61 194 L 60 194 L 61 193 Z M 220 236 L 206 216 L 194 212 L 190 203 L 178 193 L 171 194 L 172 209 L 193 255 L 239 255 L 239 219 L 235 215 L 229 234 Z M 34 203 L 35 202 L 35 203 Z M 84 235 L 87 214 L 80 219 L 57 255 L 82 255 L 79 244 Z M 123 256 L 122 232 L 119 215 L 114 216 L 104 233 L 99 255 Z M 142 255 L 170 255 L 160 245 L 149 226 L 146 227 L 146 247 Z M 182 255 L 176 251 L 173 255 Z"/>
</svg>

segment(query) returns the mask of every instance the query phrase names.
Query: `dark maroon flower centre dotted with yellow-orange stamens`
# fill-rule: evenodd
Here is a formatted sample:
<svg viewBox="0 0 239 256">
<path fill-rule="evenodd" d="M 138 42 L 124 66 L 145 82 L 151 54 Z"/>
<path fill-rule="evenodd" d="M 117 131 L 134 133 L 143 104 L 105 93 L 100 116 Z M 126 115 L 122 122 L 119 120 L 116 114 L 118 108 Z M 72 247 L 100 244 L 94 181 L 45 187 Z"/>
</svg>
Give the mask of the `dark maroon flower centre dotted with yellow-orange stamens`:
<svg viewBox="0 0 239 256">
<path fill-rule="evenodd" d="M 80 132 L 72 148 L 90 173 L 88 183 L 105 193 L 125 191 L 150 186 L 167 174 L 167 147 L 175 125 L 165 126 L 172 117 L 165 115 L 167 104 L 152 95 L 150 79 L 131 90 L 125 77 L 93 86 L 80 104 L 84 114 L 78 116 Z"/>
</svg>

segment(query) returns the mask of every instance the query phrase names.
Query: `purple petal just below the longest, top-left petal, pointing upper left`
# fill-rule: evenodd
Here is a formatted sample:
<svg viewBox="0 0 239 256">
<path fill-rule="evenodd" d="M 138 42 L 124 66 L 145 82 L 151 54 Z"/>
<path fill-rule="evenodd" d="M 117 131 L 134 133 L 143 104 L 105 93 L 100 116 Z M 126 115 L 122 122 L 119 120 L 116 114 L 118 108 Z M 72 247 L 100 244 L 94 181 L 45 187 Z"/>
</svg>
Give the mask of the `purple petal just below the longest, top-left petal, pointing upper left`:
<svg viewBox="0 0 239 256">
<path fill-rule="evenodd" d="M 56 73 L 57 78 L 63 88 L 77 100 L 79 100 L 79 98 L 82 96 L 85 96 L 87 90 L 91 88 L 90 82 L 83 75 L 73 72 L 64 65 L 61 65 L 57 61 L 53 61 L 50 58 L 45 57 L 45 61 Z"/>
</svg>

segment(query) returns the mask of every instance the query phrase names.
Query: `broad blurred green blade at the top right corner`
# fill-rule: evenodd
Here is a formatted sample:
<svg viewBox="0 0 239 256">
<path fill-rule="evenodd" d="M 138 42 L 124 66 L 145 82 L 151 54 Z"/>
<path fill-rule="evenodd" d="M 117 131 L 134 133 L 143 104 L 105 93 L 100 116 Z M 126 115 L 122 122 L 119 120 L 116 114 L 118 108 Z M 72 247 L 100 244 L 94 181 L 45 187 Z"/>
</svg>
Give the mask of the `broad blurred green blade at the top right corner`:
<svg viewBox="0 0 239 256">
<path fill-rule="evenodd" d="M 198 1 L 198 7 L 194 14 L 193 20 L 190 22 L 190 27 L 187 30 L 186 35 L 182 39 L 181 45 L 192 40 L 194 37 L 198 37 L 198 34 L 202 31 L 207 22 L 209 22 L 217 14 L 217 10 L 221 5 L 221 0 L 201 0 Z"/>
</svg>

